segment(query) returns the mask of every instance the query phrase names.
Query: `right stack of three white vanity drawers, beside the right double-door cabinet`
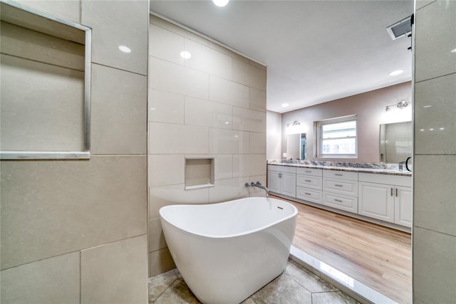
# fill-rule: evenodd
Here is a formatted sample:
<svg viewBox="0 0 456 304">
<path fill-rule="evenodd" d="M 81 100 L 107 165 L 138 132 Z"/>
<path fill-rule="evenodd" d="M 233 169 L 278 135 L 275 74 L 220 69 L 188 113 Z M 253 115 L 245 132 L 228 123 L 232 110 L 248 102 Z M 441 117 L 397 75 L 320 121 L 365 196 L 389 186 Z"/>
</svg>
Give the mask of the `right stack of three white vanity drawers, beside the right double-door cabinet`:
<svg viewBox="0 0 456 304">
<path fill-rule="evenodd" d="M 358 213 L 358 172 L 323 170 L 322 204 Z"/>
</svg>

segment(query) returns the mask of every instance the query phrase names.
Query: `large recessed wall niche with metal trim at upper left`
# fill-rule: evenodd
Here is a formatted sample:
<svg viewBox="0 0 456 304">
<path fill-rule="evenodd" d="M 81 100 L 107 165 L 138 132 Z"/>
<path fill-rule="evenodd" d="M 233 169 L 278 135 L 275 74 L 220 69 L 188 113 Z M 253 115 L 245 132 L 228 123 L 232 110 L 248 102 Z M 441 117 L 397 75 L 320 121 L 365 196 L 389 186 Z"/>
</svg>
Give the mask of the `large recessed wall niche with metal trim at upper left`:
<svg viewBox="0 0 456 304">
<path fill-rule="evenodd" d="M 0 2 L 1 159 L 90 158 L 90 28 Z"/>
</svg>

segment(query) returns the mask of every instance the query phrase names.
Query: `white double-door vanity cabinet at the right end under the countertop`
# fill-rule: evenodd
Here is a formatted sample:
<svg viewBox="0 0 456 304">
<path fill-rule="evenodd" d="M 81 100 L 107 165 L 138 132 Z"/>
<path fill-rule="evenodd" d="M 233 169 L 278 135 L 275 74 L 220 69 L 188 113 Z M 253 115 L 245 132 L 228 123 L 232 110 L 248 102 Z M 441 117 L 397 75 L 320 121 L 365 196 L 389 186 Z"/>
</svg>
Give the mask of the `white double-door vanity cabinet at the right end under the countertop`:
<svg viewBox="0 0 456 304">
<path fill-rule="evenodd" d="M 410 177 L 360 173 L 358 214 L 411 227 L 411 182 Z"/>
</svg>

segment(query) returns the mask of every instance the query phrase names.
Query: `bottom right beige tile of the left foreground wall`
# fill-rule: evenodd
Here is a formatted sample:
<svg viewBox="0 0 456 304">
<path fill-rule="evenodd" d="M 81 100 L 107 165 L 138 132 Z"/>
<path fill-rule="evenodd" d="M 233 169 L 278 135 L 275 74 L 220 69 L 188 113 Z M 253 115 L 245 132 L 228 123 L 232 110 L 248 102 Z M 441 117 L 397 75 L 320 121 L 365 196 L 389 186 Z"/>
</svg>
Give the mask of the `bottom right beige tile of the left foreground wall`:
<svg viewBox="0 0 456 304">
<path fill-rule="evenodd" d="M 145 235 L 81 251 L 81 303 L 147 303 Z"/>
</svg>

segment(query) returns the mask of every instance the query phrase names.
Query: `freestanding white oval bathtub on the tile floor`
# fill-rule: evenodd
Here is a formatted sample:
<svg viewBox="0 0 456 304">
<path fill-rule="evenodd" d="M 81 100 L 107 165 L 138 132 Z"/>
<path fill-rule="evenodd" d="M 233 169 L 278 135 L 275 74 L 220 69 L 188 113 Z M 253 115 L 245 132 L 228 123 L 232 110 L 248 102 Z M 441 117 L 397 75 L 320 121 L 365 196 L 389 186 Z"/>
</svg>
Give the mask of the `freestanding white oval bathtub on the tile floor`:
<svg viewBox="0 0 456 304">
<path fill-rule="evenodd" d="M 298 211 L 251 197 L 160 209 L 177 269 L 202 303 L 241 303 L 286 267 Z"/>
</svg>

